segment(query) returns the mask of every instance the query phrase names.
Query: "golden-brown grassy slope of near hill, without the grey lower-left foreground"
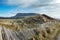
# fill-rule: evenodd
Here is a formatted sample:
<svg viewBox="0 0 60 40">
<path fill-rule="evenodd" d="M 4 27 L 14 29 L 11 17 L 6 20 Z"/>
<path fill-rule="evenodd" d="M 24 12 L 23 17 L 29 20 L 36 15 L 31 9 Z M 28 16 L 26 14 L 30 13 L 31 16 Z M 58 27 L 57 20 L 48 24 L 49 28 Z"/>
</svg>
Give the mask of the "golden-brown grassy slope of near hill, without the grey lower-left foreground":
<svg viewBox="0 0 60 40">
<path fill-rule="evenodd" d="M 40 24 L 43 25 L 44 28 L 38 29 L 39 27 L 42 27 L 39 26 Z M 10 20 L 8 22 L 3 20 L 0 22 L 0 25 L 15 31 L 28 29 L 34 30 L 35 35 L 30 37 L 29 40 L 56 40 L 60 31 L 60 22 L 55 22 L 55 20 L 50 20 L 41 15 L 18 20 Z M 27 29 L 25 29 L 26 27 Z"/>
</svg>

